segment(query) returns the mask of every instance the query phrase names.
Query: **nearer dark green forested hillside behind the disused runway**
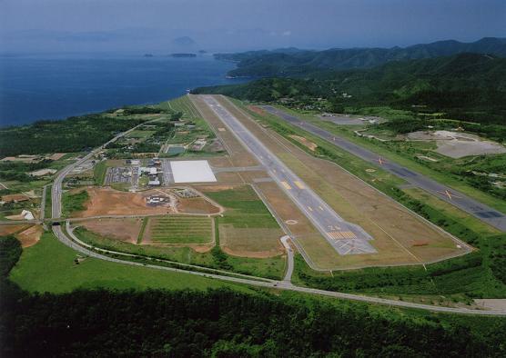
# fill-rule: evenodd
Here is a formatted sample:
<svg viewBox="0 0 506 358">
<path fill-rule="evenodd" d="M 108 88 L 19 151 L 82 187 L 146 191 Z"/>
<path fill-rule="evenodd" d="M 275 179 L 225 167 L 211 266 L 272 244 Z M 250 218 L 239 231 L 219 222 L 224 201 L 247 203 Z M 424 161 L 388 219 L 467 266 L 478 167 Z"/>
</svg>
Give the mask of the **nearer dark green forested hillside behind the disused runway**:
<svg viewBox="0 0 506 358">
<path fill-rule="evenodd" d="M 331 112 L 391 106 L 414 115 L 436 112 L 450 119 L 504 124 L 505 88 L 505 58 L 459 54 L 393 61 L 369 69 L 337 71 L 300 67 L 299 75 L 203 87 L 193 92 L 227 94 L 242 100 L 280 102 Z"/>
</svg>

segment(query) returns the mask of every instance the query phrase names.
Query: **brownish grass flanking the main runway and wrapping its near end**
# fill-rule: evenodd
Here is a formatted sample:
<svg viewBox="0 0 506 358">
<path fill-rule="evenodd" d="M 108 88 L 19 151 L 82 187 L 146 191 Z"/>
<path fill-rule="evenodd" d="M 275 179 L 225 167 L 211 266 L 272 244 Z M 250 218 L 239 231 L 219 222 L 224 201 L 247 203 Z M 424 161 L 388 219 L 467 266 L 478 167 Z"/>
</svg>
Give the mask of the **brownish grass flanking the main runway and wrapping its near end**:
<svg viewBox="0 0 506 358">
<path fill-rule="evenodd" d="M 218 97 L 221 104 L 235 114 L 248 129 L 257 135 L 266 146 L 309 184 L 336 212 L 346 220 L 359 224 L 374 237 L 371 244 L 378 254 L 345 255 L 337 254 L 314 229 L 304 230 L 300 226 L 289 225 L 296 234 L 299 244 L 309 254 L 315 264 L 322 269 L 348 268 L 382 264 L 417 264 L 463 253 L 450 235 L 423 222 L 415 214 L 371 188 L 338 165 L 319 160 L 288 140 L 270 130 L 265 130 L 248 119 L 237 107 Z M 269 203 L 285 220 L 291 214 L 288 208 L 293 204 L 279 203 L 279 194 L 267 195 L 266 184 L 258 187 L 268 197 Z M 271 188 L 271 191 L 273 189 Z M 275 192 L 275 191 L 274 191 Z M 291 204 L 291 206 L 290 206 Z M 286 207 L 283 207 L 286 206 Z M 295 216 L 292 214 L 292 216 Z M 303 218 L 299 219 L 304 222 Z M 297 218 L 293 220 L 298 221 Z M 424 243 L 424 245 L 418 245 Z M 427 244 L 425 244 L 427 243 Z"/>
</svg>

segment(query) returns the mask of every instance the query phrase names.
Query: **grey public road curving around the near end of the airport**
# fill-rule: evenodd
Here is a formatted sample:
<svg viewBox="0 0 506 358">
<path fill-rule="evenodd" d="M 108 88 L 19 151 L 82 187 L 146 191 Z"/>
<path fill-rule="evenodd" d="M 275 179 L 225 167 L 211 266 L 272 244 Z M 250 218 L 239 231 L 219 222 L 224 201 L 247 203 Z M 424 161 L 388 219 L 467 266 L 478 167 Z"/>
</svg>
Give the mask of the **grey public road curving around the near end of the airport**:
<svg viewBox="0 0 506 358">
<path fill-rule="evenodd" d="M 136 129 L 136 127 L 132 128 L 130 131 Z M 129 132 L 129 131 L 128 131 Z M 125 133 L 126 134 L 126 133 Z M 122 134 L 124 135 L 124 134 Z M 121 135 L 118 135 L 115 139 Z M 94 152 L 98 152 L 101 150 L 102 147 L 96 149 Z M 92 152 L 92 153 L 94 153 Z M 69 173 L 76 164 L 70 164 L 68 165 L 60 174 L 57 175 L 56 179 L 58 179 L 59 188 L 56 191 L 52 191 L 53 195 L 53 213 L 56 213 L 57 216 L 54 218 L 59 218 L 61 216 L 61 183 L 63 182 L 63 179 L 66 176 L 66 173 Z M 56 181 L 55 181 L 56 184 Z M 55 186 L 55 184 L 53 186 Z M 59 193 L 59 194 L 58 194 Z M 55 199 L 58 199 L 58 202 L 56 202 Z M 352 294 L 352 293 L 339 293 L 339 292 L 332 292 L 332 291 L 324 291 L 324 290 L 318 290 L 308 287 L 299 287 L 296 285 L 293 285 L 291 283 L 287 283 L 286 281 L 273 281 L 268 279 L 261 279 L 262 281 L 257 281 L 253 279 L 247 279 L 247 278 L 238 278 L 238 277 L 231 277 L 226 275 L 219 275 L 219 274 L 210 274 L 210 273 L 201 273 L 196 271 L 190 271 L 190 270 L 181 270 L 173 267 L 167 267 L 167 266 L 160 266 L 157 264 L 140 264 L 136 262 L 121 260 L 117 258 L 113 258 L 110 256 L 107 256 L 105 254 L 97 254 L 95 251 L 89 250 L 88 248 L 76 244 L 76 242 L 69 239 L 66 234 L 62 231 L 62 227 L 60 225 L 53 226 L 53 233 L 56 235 L 56 238 L 62 243 L 66 244 L 66 246 L 76 250 L 77 252 L 84 254 L 88 257 L 94 257 L 99 260 L 104 260 L 111 263 L 116 264 L 127 264 L 131 266 L 143 266 L 148 267 L 151 269 L 156 270 L 163 270 L 163 271 L 170 271 L 170 272 L 176 272 L 176 273 L 187 273 L 187 274 L 194 274 L 197 276 L 207 277 L 211 279 L 218 279 L 222 281 L 228 281 L 233 283 L 244 283 L 254 286 L 260 286 L 260 287 L 269 287 L 269 288 L 278 288 L 280 290 L 289 290 L 289 291 L 295 291 L 300 293 L 312 293 L 312 294 L 319 294 L 319 295 L 325 295 L 329 297 L 335 297 L 339 299 L 344 300 L 351 300 L 351 301 L 358 301 L 358 302 L 364 302 L 364 303 L 379 303 L 389 306 L 396 306 L 396 307 L 403 307 L 403 308 L 415 308 L 415 309 L 421 309 L 426 311 L 432 311 L 432 312 L 443 312 L 443 313 L 462 313 L 462 314 L 471 314 L 471 315 L 494 315 L 494 316 L 506 316 L 506 311 L 485 311 L 485 310 L 470 310 L 466 308 L 453 308 L 453 307 L 440 307 L 440 306 L 432 306 L 429 304 L 420 304 L 420 303 L 409 303 L 409 302 L 403 302 L 403 301 L 396 301 L 396 300 L 388 300 L 378 297 L 369 297 L 369 296 L 363 296 L 359 294 Z M 285 244 L 285 243 L 283 243 Z M 108 251 L 110 254 L 118 254 L 118 255 L 127 255 L 125 253 L 119 253 L 119 252 L 112 252 Z M 293 253 L 292 253 L 293 254 Z M 290 256 L 290 252 L 288 251 L 288 257 Z M 293 255 L 292 255 L 293 257 Z M 288 264 L 289 267 L 289 264 Z M 293 265 L 292 265 L 293 267 Z M 288 273 L 285 275 L 285 279 L 287 279 Z"/>
</svg>

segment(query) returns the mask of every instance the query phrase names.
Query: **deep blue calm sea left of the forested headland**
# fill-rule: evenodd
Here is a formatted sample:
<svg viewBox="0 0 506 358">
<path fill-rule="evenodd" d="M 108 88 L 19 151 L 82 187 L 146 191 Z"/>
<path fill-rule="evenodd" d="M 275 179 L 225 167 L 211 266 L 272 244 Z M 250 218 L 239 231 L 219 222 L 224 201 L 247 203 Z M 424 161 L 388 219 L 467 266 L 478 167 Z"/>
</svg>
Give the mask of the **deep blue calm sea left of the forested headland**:
<svg viewBox="0 0 506 358">
<path fill-rule="evenodd" d="M 0 57 L 0 125 L 154 104 L 203 85 L 225 85 L 233 64 L 197 58 Z"/>
</svg>

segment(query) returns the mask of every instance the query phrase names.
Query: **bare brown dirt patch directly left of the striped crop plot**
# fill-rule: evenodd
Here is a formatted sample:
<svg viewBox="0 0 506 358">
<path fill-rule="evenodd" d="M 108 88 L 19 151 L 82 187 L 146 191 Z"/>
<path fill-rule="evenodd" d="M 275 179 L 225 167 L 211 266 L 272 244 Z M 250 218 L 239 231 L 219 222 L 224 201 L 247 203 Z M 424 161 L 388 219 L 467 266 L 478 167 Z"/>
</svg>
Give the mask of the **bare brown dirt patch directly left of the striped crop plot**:
<svg viewBox="0 0 506 358">
<path fill-rule="evenodd" d="M 87 230 L 111 239 L 137 244 L 142 219 L 96 219 L 82 222 Z"/>
</svg>

